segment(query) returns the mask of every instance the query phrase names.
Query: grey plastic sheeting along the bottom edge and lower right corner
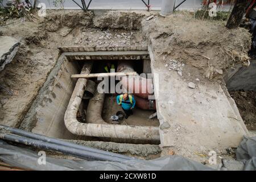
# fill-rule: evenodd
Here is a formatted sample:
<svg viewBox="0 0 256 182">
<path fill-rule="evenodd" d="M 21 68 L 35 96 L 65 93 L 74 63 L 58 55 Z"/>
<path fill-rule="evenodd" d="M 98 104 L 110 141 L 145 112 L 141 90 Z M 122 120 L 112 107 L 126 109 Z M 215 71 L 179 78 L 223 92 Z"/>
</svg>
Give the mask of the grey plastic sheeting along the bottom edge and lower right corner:
<svg viewBox="0 0 256 182">
<path fill-rule="evenodd" d="M 32 169 L 32 170 L 96 170 L 96 171 L 115 171 L 115 170 L 214 170 L 201 163 L 182 156 L 166 156 L 155 160 L 127 160 L 123 163 L 103 162 L 89 160 L 70 160 L 46 157 L 46 164 L 40 165 L 37 152 L 27 148 L 13 146 L 0 140 L 0 160 L 11 166 Z M 244 170 L 256 169 L 256 137 L 244 137 L 240 146 L 237 148 L 237 159 L 242 162 Z M 225 170 L 224 166 L 219 170 Z"/>
</svg>

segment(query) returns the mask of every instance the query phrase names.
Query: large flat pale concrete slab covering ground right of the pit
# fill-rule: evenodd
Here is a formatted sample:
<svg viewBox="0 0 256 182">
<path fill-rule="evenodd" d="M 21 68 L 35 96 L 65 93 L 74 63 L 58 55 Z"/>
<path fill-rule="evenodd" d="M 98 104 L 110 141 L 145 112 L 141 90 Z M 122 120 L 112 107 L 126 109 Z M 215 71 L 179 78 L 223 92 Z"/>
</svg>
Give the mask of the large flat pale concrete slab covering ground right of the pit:
<svg viewBox="0 0 256 182">
<path fill-rule="evenodd" d="M 228 92 L 216 82 L 195 82 L 196 88 L 189 88 L 176 72 L 164 71 L 151 48 L 148 51 L 163 151 L 168 155 L 168 150 L 174 150 L 177 155 L 200 161 L 196 153 L 237 147 L 248 131 Z"/>
</svg>

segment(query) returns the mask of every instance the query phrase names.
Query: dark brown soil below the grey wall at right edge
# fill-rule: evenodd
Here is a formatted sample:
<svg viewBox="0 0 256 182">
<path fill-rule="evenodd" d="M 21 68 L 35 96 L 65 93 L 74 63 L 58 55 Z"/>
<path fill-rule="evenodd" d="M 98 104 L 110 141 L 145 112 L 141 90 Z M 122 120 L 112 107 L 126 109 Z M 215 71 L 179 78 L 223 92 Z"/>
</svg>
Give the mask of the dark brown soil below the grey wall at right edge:
<svg viewBox="0 0 256 182">
<path fill-rule="evenodd" d="M 230 96 L 236 102 L 247 129 L 256 130 L 256 92 L 232 91 Z"/>
</svg>

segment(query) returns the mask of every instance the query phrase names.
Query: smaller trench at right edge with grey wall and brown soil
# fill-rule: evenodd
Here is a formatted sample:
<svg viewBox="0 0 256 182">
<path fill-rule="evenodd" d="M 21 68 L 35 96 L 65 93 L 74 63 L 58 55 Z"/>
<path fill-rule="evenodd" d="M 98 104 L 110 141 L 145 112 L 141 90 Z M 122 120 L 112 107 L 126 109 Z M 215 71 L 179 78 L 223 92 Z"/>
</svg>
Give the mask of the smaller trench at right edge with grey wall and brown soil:
<svg viewBox="0 0 256 182">
<path fill-rule="evenodd" d="M 229 68 L 224 76 L 226 88 L 236 102 L 245 126 L 251 133 L 256 131 L 256 60 L 249 67 L 241 64 Z"/>
</svg>

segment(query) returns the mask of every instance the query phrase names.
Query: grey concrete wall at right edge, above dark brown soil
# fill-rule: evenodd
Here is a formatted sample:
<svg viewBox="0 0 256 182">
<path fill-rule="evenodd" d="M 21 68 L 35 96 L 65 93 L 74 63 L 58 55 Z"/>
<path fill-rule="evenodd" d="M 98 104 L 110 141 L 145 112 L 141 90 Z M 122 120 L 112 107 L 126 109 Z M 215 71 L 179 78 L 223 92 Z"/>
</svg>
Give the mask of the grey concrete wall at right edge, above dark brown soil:
<svg viewBox="0 0 256 182">
<path fill-rule="evenodd" d="M 256 91 L 256 60 L 251 60 L 249 67 L 238 65 L 234 69 L 229 69 L 225 81 L 228 90 Z"/>
</svg>

